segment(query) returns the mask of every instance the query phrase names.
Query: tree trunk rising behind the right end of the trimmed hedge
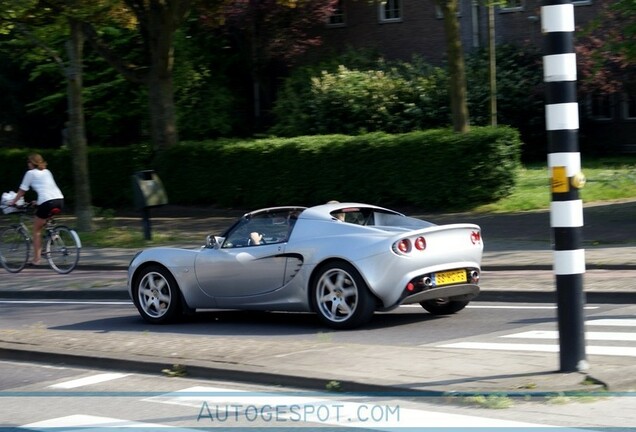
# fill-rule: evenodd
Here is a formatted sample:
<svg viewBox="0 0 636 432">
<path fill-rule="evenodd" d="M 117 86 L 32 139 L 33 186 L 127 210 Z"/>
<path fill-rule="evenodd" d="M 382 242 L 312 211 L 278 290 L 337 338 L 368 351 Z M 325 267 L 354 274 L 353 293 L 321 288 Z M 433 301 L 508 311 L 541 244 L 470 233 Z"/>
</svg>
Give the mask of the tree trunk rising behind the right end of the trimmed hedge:
<svg viewBox="0 0 636 432">
<path fill-rule="evenodd" d="M 457 19 L 457 0 L 436 0 L 444 14 L 446 51 L 450 75 L 450 103 L 455 132 L 468 132 L 469 116 L 466 91 L 466 70 L 461 31 Z"/>
</svg>

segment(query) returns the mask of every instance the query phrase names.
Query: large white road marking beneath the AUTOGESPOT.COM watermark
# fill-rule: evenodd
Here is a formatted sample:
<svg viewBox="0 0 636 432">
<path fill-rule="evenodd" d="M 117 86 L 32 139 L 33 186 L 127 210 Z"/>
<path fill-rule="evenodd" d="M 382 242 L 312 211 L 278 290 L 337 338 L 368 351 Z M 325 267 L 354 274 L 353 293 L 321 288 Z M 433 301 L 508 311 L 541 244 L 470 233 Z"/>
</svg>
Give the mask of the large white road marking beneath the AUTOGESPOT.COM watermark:
<svg viewBox="0 0 636 432">
<path fill-rule="evenodd" d="M 463 414 L 404 408 L 399 401 L 352 402 L 316 397 L 291 396 L 285 393 L 254 393 L 217 387 L 191 387 L 145 401 L 196 407 L 198 424 L 209 421 L 224 426 L 239 426 L 232 421 L 253 416 L 269 422 L 269 427 L 301 423 L 337 425 L 341 427 L 392 430 L 396 428 L 528 428 L 554 427 L 537 423 L 500 420 Z M 228 429 L 229 430 L 229 429 Z"/>
</svg>

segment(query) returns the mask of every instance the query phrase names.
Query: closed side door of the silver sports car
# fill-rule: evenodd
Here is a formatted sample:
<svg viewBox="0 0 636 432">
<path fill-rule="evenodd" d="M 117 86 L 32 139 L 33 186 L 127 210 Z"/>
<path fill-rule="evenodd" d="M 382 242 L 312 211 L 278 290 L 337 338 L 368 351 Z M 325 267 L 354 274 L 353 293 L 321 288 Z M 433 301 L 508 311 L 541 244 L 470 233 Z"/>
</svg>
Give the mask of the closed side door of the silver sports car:
<svg viewBox="0 0 636 432">
<path fill-rule="evenodd" d="M 217 298 L 248 297 L 280 288 L 285 277 L 285 243 L 204 249 L 195 263 L 199 287 Z"/>
</svg>

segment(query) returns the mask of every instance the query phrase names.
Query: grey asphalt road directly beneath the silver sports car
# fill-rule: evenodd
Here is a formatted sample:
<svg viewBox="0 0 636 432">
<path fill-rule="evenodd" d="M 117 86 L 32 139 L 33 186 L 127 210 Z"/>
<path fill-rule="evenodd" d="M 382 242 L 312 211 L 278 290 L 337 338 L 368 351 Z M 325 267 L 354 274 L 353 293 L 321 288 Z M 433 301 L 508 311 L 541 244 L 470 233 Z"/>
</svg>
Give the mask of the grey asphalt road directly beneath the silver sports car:
<svg viewBox="0 0 636 432">
<path fill-rule="evenodd" d="M 585 313 L 588 320 L 633 316 L 636 306 L 591 304 Z M 121 335 L 122 340 L 129 333 L 209 335 L 233 341 L 254 337 L 279 341 L 327 338 L 334 343 L 390 347 L 464 340 L 487 342 L 498 334 L 555 331 L 556 314 L 554 305 L 537 303 L 475 303 L 451 316 L 433 316 L 419 306 L 407 306 L 378 313 L 369 325 L 342 332 L 325 329 L 313 314 L 303 313 L 201 311 L 180 324 L 157 326 L 145 323 L 128 301 L 1 300 L 0 330 L 47 328 L 111 333 Z"/>
</svg>

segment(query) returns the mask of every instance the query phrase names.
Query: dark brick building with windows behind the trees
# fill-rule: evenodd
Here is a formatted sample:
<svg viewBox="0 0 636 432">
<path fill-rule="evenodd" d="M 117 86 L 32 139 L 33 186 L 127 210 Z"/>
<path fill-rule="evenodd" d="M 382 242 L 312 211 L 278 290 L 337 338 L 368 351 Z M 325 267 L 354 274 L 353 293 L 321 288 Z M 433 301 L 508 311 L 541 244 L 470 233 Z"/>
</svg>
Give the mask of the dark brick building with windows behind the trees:
<svg viewBox="0 0 636 432">
<path fill-rule="evenodd" d="M 459 0 L 464 51 L 488 46 L 488 8 L 482 1 Z M 600 3 L 572 1 L 577 26 L 598 15 Z M 541 46 L 541 1 L 508 0 L 494 9 L 497 44 Z M 444 24 L 433 0 L 341 0 L 323 30 L 323 47 L 368 48 L 387 59 L 418 54 L 433 64 L 446 55 Z M 599 95 L 580 101 L 581 134 L 594 149 L 636 152 L 636 94 Z"/>
</svg>

